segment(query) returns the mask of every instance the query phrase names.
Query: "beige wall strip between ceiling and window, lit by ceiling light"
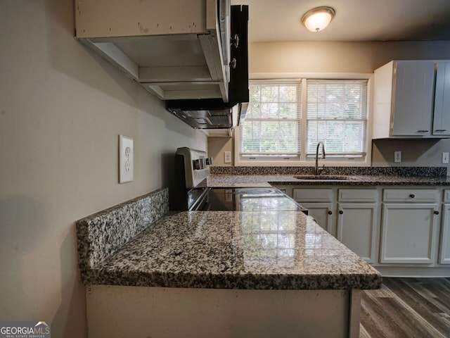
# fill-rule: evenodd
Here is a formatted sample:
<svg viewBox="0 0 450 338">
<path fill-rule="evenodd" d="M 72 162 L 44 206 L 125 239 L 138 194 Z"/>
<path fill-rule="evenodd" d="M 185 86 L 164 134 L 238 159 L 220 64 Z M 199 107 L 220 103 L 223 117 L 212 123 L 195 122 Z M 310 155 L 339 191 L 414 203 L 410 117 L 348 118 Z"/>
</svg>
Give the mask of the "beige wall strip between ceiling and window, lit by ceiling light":
<svg viewBox="0 0 450 338">
<path fill-rule="evenodd" d="M 250 73 L 373 73 L 394 59 L 448 59 L 450 42 L 259 42 Z"/>
</svg>

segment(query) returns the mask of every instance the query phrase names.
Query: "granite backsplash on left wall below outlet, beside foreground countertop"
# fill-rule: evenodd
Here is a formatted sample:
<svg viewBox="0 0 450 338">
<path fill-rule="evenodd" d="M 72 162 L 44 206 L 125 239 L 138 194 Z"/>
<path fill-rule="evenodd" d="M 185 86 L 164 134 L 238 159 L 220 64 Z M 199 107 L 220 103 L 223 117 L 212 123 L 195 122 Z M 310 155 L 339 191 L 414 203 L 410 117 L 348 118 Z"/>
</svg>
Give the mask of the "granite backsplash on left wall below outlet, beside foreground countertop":
<svg viewBox="0 0 450 338">
<path fill-rule="evenodd" d="M 169 189 L 162 188 L 76 222 L 79 269 L 94 268 L 150 224 L 169 212 Z"/>
</svg>

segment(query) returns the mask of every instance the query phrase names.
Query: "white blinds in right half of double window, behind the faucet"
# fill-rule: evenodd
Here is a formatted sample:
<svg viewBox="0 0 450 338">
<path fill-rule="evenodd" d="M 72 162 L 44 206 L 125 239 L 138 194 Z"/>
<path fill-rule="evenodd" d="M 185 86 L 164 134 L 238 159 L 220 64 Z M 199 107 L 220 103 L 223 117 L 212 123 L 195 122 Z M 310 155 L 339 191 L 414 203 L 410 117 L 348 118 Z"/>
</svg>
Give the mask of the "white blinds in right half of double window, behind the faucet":
<svg viewBox="0 0 450 338">
<path fill-rule="evenodd" d="M 366 154 L 367 80 L 307 80 L 307 155 Z"/>
</svg>

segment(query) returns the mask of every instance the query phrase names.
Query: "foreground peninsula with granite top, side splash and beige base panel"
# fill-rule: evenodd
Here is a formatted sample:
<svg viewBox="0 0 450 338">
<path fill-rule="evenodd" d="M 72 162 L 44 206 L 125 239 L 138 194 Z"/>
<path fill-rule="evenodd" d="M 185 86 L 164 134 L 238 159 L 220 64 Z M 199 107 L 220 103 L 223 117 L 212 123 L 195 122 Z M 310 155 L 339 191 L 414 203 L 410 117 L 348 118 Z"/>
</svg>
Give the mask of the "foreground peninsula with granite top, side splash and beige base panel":
<svg viewBox="0 0 450 338">
<path fill-rule="evenodd" d="M 77 221 L 77 242 L 89 338 L 357 338 L 382 282 L 300 211 L 169 213 L 167 189 Z"/>
</svg>

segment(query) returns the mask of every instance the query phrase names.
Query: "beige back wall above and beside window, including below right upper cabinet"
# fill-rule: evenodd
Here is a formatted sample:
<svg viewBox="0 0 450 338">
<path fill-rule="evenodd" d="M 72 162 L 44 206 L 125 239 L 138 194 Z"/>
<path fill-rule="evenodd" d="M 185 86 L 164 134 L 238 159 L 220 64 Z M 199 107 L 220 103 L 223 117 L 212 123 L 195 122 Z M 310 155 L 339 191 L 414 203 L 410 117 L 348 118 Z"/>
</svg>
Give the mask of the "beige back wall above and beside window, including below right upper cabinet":
<svg viewBox="0 0 450 338">
<path fill-rule="evenodd" d="M 373 73 L 391 60 L 450 59 L 450 42 L 258 42 L 249 45 L 250 78 L 264 78 L 271 73 L 285 76 L 306 73 Z M 418 141 L 412 149 L 409 142 L 385 140 L 373 149 L 373 165 L 394 164 L 394 150 L 403 150 L 400 165 L 442 165 L 442 151 L 450 151 L 449 142 Z M 401 149 L 399 146 L 401 145 Z M 232 142 L 220 147 L 209 142 L 210 156 L 223 157 L 232 151 Z M 391 156 L 390 156 L 391 155 Z"/>
</svg>

